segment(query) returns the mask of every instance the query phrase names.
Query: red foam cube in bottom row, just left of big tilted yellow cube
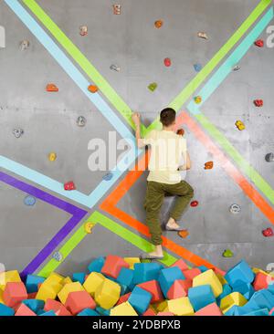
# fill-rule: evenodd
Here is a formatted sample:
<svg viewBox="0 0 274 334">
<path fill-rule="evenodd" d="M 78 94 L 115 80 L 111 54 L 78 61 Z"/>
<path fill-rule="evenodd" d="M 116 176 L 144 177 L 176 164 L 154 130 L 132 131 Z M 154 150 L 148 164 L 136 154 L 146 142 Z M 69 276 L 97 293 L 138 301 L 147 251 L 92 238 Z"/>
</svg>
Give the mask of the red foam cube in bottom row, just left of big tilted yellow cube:
<svg viewBox="0 0 274 334">
<path fill-rule="evenodd" d="M 75 316 L 85 308 L 96 308 L 96 304 L 87 291 L 74 291 L 69 292 L 65 308 Z"/>
</svg>

